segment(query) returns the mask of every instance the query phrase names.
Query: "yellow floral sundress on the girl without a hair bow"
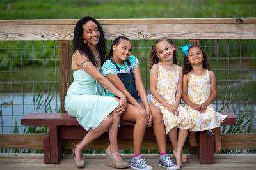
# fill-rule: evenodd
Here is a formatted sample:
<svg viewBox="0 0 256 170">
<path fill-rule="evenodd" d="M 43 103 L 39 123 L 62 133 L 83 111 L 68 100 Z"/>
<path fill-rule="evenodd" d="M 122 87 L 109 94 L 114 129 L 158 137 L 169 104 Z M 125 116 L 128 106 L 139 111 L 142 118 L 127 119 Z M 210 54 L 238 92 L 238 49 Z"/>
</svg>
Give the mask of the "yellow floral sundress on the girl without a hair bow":
<svg viewBox="0 0 256 170">
<path fill-rule="evenodd" d="M 159 71 L 157 74 L 157 92 L 169 103 L 174 104 L 176 99 L 176 91 L 179 81 L 178 66 L 175 71 L 168 71 L 159 65 Z M 178 111 L 179 116 L 173 115 L 167 108 L 159 103 L 154 96 L 151 96 L 151 103 L 157 106 L 163 114 L 165 133 L 168 132 L 175 126 L 181 129 L 190 129 L 191 117 L 188 112 L 179 105 Z"/>
</svg>

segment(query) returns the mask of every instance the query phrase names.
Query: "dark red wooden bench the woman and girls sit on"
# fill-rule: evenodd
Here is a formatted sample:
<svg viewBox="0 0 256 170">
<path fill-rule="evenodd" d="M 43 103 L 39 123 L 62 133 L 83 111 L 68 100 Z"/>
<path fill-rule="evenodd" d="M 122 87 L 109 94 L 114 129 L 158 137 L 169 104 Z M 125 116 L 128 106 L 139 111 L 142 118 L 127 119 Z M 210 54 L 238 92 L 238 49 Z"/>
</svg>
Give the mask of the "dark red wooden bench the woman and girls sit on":
<svg viewBox="0 0 256 170">
<path fill-rule="evenodd" d="M 236 124 L 236 116 L 232 112 L 222 113 L 228 115 L 223 125 Z M 121 121 L 118 129 L 118 140 L 132 139 L 134 122 Z M 21 119 L 22 125 L 27 126 L 49 126 L 49 134 L 44 139 L 44 163 L 58 164 L 63 155 L 64 139 L 83 139 L 88 131 L 83 129 L 76 118 L 67 113 L 29 113 Z M 98 138 L 108 141 L 108 132 Z M 152 127 L 147 127 L 144 140 L 155 140 Z M 207 131 L 198 133 L 199 159 L 201 164 L 214 164 L 214 138 Z"/>
</svg>

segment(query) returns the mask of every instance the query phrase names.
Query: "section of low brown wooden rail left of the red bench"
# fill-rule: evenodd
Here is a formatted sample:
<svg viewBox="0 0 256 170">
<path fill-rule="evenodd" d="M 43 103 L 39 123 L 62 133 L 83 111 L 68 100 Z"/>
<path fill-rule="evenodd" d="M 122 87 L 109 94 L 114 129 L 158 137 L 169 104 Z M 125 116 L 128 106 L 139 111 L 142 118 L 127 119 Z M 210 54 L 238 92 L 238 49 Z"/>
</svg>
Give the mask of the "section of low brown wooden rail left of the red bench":
<svg viewBox="0 0 256 170">
<path fill-rule="evenodd" d="M 47 134 L 0 134 L 0 148 L 42 149 Z"/>
</svg>

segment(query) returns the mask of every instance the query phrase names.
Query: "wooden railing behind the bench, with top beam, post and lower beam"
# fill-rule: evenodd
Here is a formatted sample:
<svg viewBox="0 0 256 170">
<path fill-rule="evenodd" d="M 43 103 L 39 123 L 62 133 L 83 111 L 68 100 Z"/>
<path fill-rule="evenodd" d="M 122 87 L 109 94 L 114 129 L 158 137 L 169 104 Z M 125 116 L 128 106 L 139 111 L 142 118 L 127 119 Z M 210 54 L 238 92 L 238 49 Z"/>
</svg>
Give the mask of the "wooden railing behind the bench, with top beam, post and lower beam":
<svg viewBox="0 0 256 170">
<path fill-rule="evenodd" d="M 59 41 L 61 113 L 70 85 L 70 40 L 77 20 L 0 20 L 0 41 Z M 107 40 L 256 39 L 256 18 L 106 19 L 99 20 Z M 42 148 L 45 134 L 0 134 L 0 148 Z M 223 148 L 256 148 L 256 134 L 222 134 Z M 97 141 L 95 141 L 97 145 Z M 151 148 L 156 148 L 152 143 Z M 72 145 L 65 145 L 70 148 Z"/>
</svg>

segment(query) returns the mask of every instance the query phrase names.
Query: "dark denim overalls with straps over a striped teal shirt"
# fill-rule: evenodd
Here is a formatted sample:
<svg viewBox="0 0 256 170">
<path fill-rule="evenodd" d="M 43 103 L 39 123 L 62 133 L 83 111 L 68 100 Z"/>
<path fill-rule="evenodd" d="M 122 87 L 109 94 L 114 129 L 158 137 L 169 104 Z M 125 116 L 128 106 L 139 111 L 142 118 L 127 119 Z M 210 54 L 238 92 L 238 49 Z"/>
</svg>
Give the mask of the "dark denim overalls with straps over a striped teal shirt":
<svg viewBox="0 0 256 170">
<path fill-rule="evenodd" d="M 138 101 L 138 103 L 140 103 L 141 99 L 136 90 L 135 78 L 132 71 L 131 62 L 128 59 L 125 60 L 125 62 L 130 68 L 130 71 L 128 73 L 120 73 L 120 67 L 117 66 L 116 62 L 113 59 L 109 59 L 109 60 L 111 60 L 111 62 L 116 66 L 117 75 L 120 78 L 120 80 L 124 83 L 124 86 L 127 89 L 127 91 L 131 94 L 132 97 L 134 97 L 134 99 L 136 99 L 136 101 Z"/>
</svg>

